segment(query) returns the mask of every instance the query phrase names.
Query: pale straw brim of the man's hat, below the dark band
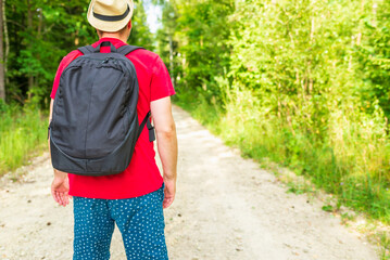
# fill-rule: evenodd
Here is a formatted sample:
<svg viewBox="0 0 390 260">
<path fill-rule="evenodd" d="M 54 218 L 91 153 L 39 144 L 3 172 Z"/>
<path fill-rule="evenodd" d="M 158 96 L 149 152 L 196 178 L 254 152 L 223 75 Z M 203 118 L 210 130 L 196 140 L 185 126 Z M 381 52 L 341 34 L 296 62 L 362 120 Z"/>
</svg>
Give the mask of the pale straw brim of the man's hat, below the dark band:
<svg viewBox="0 0 390 260">
<path fill-rule="evenodd" d="M 95 2 L 96 2 L 96 0 L 92 0 L 89 4 L 87 18 L 88 18 L 89 24 L 91 26 L 93 26 L 96 29 L 99 29 L 102 31 L 108 31 L 108 32 L 114 32 L 114 31 L 118 31 L 118 30 L 123 29 L 128 24 L 128 22 L 130 22 L 131 16 L 133 16 L 133 11 L 134 11 L 133 1 L 126 0 L 130 11 L 126 15 L 126 17 L 124 17 L 121 21 L 102 21 L 102 20 L 95 17 L 93 11 L 92 11 L 92 6 L 93 6 Z"/>
</svg>

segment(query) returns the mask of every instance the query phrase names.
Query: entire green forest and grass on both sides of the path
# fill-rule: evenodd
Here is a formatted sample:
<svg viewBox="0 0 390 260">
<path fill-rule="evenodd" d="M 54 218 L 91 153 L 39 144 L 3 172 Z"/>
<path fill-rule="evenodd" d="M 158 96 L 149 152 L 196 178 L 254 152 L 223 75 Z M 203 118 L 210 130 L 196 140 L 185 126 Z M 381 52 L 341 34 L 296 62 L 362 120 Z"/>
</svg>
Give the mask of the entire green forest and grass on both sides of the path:
<svg viewBox="0 0 390 260">
<path fill-rule="evenodd" d="M 97 36 L 86 21 L 87 0 L 0 2 L 0 172 L 7 172 L 46 147 L 56 66 Z M 163 57 L 176 104 L 262 166 L 288 167 L 335 194 L 337 207 L 390 222 L 389 1 L 153 4 L 162 10 L 159 30 L 150 32 L 138 1 L 128 43 Z"/>
</svg>

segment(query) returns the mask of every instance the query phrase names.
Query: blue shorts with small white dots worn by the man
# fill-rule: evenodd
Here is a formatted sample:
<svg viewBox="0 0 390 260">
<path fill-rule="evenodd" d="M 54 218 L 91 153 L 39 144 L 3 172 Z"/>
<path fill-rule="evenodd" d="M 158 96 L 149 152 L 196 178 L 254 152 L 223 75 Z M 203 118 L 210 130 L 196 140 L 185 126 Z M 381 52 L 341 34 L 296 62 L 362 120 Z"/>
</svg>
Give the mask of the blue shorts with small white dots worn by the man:
<svg viewBox="0 0 390 260">
<path fill-rule="evenodd" d="M 127 259 L 168 259 L 162 202 L 164 190 L 128 199 L 74 197 L 74 260 L 110 259 L 115 223 Z"/>
</svg>

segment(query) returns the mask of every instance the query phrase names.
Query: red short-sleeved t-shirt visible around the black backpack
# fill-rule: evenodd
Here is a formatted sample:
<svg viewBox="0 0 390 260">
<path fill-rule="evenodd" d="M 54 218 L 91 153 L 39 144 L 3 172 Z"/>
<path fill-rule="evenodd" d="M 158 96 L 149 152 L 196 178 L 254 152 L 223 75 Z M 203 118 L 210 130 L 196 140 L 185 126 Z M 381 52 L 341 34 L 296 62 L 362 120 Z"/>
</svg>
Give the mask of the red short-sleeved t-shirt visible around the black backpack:
<svg viewBox="0 0 390 260">
<path fill-rule="evenodd" d="M 115 48 L 125 43 L 115 38 L 102 38 L 95 42 L 97 47 L 102 41 L 111 41 Z M 102 47 L 101 52 L 110 52 L 110 47 Z M 68 53 L 60 63 L 56 72 L 51 99 L 60 83 L 62 72 L 76 57 L 83 55 L 78 50 Z M 139 98 L 137 113 L 139 122 L 150 110 L 150 102 L 175 94 L 169 74 L 161 57 L 150 51 L 139 49 L 127 55 L 137 70 Z M 70 195 L 88 197 L 121 199 L 138 197 L 159 190 L 163 183 L 162 176 L 155 164 L 153 143 L 149 142 L 148 129 L 143 128 L 139 136 L 131 161 L 127 169 L 118 174 L 105 177 L 85 177 L 68 174 Z"/>
</svg>

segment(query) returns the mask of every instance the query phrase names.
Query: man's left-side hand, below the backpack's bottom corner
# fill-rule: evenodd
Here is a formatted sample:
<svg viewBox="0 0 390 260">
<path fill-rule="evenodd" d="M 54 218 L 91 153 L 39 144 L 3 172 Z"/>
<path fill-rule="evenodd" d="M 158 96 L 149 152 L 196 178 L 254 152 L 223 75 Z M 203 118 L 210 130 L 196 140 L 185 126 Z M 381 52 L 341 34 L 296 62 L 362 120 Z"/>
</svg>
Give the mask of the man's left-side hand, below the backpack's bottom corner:
<svg viewBox="0 0 390 260">
<path fill-rule="evenodd" d="M 54 200 L 61 206 L 66 206 L 70 204 L 70 180 L 67 179 L 67 173 L 54 169 L 54 179 L 51 183 L 51 195 Z"/>
</svg>

